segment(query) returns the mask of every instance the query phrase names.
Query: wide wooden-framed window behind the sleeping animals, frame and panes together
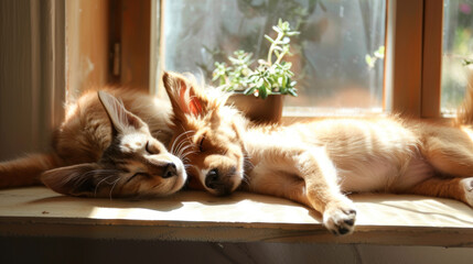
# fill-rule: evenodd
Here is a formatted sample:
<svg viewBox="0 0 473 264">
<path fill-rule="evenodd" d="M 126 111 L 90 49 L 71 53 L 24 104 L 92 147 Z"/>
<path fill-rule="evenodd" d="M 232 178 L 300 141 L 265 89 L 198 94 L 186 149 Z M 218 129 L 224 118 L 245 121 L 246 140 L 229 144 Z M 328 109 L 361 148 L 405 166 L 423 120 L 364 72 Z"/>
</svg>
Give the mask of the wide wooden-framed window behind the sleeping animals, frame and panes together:
<svg viewBox="0 0 473 264">
<path fill-rule="evenodd" d="M 87 82 L 97 70 L 109 73 L 99 78 L 99 84 L 115 80 L 153 91 L 162 89 L 162 69 L 192 72 L 209 82 L 214 62 L 223 62 L 234 51 L 241 48 L 252 52 L 254 57 L 262 56 L 268 45 L 262 35 L 271 33 L 279 18 L 302 32 L 292 38 L 294 55 L 288 57 L 298 76 L 299 97 L 287 97 L 286 114 L 313 116 L 315 109 L 315 114 L 393 111 L 441 118 L 454 112 L 464 91 L 465 75 L 456 81 L 458 88 L 445 84 L 458 79 L 460 72 L 465 73 L 464 66 L 449 66 L 449 61 L 456 58 L 461 64 L 467 57 L 454 55 L 451 47 L 460 45 L 452 44 L 456 25 L 470 31 L 471 15 L 461 12 L 467 12 L 471 0 L 119 0 L 107 4 L 98 10 L 108 13 L 97 15 L 108 18 L 101 23 L 105 28 L 95 22 L 89 26 L 92 32 L 109 32 L 108 38 L 99 42 L 106 45 L 98 45 L 100 59 L 95 62 L 94 56 L 79 53 L 84 59 L 75 59 L 67 72 L 76 73 L 74 67 L 78 67 L 86 80 L 71 76 L 69 91 L 74 92 L 77 81 Z M 73 6 L 66 4 L 67 10 L 77 10 Z M 83 8 L 78 18 L 87 22 L 84 12 L 87 9 Z M 451 22 L 458 19 L 461 23 Z M 85 35 L 80 38 L 94 42 L 80 42 L 79 46 L 88 43 L 95 51 L 96 40 L 101 38 Z M 77 46 L 74 38 L 68 38 L 68 44 Z M 383 47 L 384 56 L 379 53 Z M 118 57 L 118 65 L 104 63 L 112 57 Z M 94 67 L 89 73 L 90 65 Z M 111 74 L 111 69 L 117 72 Z"/>
</svg>

